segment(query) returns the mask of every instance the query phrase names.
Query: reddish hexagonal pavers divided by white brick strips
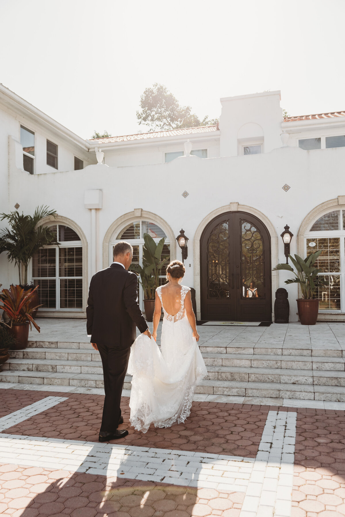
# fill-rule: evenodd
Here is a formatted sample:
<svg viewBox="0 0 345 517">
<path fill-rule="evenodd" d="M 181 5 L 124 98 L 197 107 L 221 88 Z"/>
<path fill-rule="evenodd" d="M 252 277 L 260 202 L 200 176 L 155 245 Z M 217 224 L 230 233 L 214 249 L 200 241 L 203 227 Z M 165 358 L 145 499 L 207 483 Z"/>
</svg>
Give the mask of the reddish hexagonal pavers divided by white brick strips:
<svg viewBox="0 0 345 517">
<path fill-rule="evenodd" d="M 2 434 L 97 442 L 102 396 L 0 389 L 0 416 L 46 397 L 67 397 L 54 407 L 6 429 Z M 269 410 L 277 407 L 193 402 L 184 424 L 151 428 L 143 435 L 129 428 L 116 445 L 256 458 Z M 280 407 L 297 415 L 292 517 L 345 515 L 345 412 Z M 1 457 L 0 457 L 1 458 Z M 14 461 L 13 461 L 14 463 Z M 274 481 L 272 481 L 274 482 Z M 0 459 L 0 513 L 14 517 L 246 517 L 244 492 L 191 488 L 159 482 L 85 474 L 49 467 L 8 464 Z M 272 490 L 272 483 L 271 483 Z M 269 517 L 266 513 L 263 517 Z"/>
</svg>

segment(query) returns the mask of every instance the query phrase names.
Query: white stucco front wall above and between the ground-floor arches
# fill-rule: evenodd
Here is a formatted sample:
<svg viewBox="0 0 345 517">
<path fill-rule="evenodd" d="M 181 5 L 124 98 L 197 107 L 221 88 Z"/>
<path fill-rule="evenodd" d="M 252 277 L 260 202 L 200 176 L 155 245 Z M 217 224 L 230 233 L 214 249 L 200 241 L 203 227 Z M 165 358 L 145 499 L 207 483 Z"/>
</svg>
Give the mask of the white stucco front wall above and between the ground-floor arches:
<svg viewBox="0 0 345 517">
<path fill-rule="evenodd" d="M 29 176 L 16 168 L 10 171 L 10 205 L 18 202 L 32 212 L 37 200 L 54 207 L 58 214 L 75 221 L 91 242 L 91 210 L 84 208 L 84 191 L 103 191 L 98 211 L 99 247 L 114 220 L 134 208 L 157 214 L 177 236 L 183 227 L 189 237 L 185 283 L 193 286 L 192 241 L 200 222 L 210 212 L 230 202 L 261 211 L 279 236 L 289 224 L 294 236 L 308 212 L 316 205 L 345 194 L 339 179 L 343 174 L 345 148 L 304 151 L 281 147 L 271 153 L 201 160 L 182 157 L 170 163 L 112 168 L 91 165 L 83 171 Z M 329 164 L 332 163 L 332 167 Z M 176 179 L 177 178 L 177 179 Z M 325 178 L 327 178 L 325 180 Z M 310 183 L 316 187 L 310 190 Z M 288 183 L 290 190 L 282 186 Z M 320 187 L 318 187 L 318 184 Z M 18 189 L 20 185 L 20 190 Z M 68 188 L 66 188 L 68 186 Z M 184 190 L 189 196 L 184 199 Z M 230 209 L 230 208 L 229 208 Z M 297 252 L 296 238 L 291 252 Z M 91 278 L 91 247 L 88 247 L 88 281 Z M 284 261 L 283 243 L 278 239 L 279 261 Z M 101 250 L 98 250 L 101 254 Z M 179 257 L 179 250 L 176 253 Z M 190 264 L 190 266 L 189 266 Z M 272 264 L 275 266 L 275 264 Z M 289 273 L 279 273 L 279 285 Z M 286 286 L 291 321 L 296 321 L 297 290 Z M 274 299 L 273 299 L 274 301 Z"/>
</svg>

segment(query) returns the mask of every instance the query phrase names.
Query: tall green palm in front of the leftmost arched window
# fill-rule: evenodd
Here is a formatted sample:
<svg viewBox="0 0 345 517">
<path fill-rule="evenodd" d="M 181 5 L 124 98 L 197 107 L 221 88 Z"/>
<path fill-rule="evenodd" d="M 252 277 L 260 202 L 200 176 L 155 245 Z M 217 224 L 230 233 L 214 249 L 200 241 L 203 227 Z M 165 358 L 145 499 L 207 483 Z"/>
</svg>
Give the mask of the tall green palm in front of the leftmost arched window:
<svg viewBox="0 0 345 517">
<path fill-rule="evenodd" d="M 10 262 L 19 270 L 19 284 L 22 283 L 21 270 L 24 267 L 24 284 L 27 283 L 27 268 L 34 254 L 49 244 L 59 244 L 56 234 L 48 226 L 38 223 L 48 216 L 55 216 L 56 210 L 48 206 L 37 207 L 33 216 L 24 216 L 16 210 L 10 214 L 0 214 L 0 220 L 7 219 L 9 227 L 0 235 L 0 253 L 7 251 Z"/>
</svg>

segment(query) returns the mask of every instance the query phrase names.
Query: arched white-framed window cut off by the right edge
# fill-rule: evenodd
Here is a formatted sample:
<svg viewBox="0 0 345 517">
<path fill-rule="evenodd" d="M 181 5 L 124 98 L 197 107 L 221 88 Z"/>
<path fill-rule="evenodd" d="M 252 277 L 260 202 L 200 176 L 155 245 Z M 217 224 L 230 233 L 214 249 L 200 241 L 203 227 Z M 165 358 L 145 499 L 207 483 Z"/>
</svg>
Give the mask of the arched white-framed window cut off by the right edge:
<svg viewBox="0 0 345 517">
<path fill-rule="evenodd" d="M 328 211 L 311 224 L 305 234 L 305 253 L 322 250 L 315 266 L 325 285 L 316 298 L 321 312 L 345 312 L 345 207 Z"/>
</svg>

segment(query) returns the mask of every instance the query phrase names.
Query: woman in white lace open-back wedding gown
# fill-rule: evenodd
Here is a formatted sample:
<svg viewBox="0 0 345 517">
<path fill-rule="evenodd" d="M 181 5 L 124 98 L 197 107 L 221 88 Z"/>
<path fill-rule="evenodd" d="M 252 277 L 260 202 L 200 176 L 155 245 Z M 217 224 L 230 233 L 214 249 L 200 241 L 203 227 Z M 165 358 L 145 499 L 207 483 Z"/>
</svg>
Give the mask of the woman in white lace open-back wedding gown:
<svg viewBox="0 0 345 517">
<path fill-rule="evenodd" d="M 141 334 L 134 341 L 128 364 L 132 375 L 130 423 L 146 433 L 150 424 L 170 427 L 189 416 L 194 389 L 207 375 L 197 341 L 199 334 L 192 309 L 190 288 L 181 285 L 182 262 L 167 268 L 168 284 L 157 287 L 153 334 Z M 163 309 L 161 349 L 156 344 Z"/>
</svg>

